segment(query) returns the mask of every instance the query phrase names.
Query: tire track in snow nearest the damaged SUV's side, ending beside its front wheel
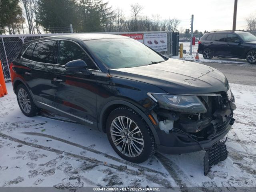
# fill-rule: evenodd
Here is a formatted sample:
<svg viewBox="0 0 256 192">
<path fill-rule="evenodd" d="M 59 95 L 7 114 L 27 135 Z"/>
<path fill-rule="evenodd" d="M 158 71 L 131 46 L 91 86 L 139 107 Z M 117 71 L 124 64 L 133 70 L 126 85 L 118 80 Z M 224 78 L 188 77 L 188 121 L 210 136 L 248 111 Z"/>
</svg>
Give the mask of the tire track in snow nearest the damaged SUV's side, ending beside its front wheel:
<svg viewBox="0 0 256 192">
<path fill-rule="evenodd" d="M 160 171 L 157 171 L 157 170 L 154 170 L 154 169 L 150 169 L 150 168 L 147 168 L 147 167 L 144 167 L 144 166 L 140 166 L 138 164 L 134 164 L 132 162 L 128 162 L 126 160 L 122 160 L 122 159 L 119 159 L 119 158 L 116 158 L 114 156 L 111 156 L 109 154 L 106 154 L 104 152 L 100 152 L 98 150 L 95 150 L 95 149 L 92 149 L 92 148 L 89 148 L 89 147 L 86 147 L 86 146 L 82 146 L 80 144 L 77 144 L 77 143 L 74 143 L 74 142 L 70 142 L 68 140 L 64 140 L 64 139 L 61 139 L 61 138 L 58 138 L 58 137 L 55 137 L 55 136 L 52 136 L 52 135 L 47 135 L 47 134 L 43 134 L 43 133 L 37 133 L 37 132 L 22 132 L 26 135 L 35 135 L 35 136 L 42 136 L 42 137 L 46 137 L 46 138 L 50 138 L 50 139 L 54 139 L 54 140 L 58 140 L 60 142 L 64 142 L 66 144 L 70 144 L 72 146 L 76 146 L 78 148 L 82 148 L 84 150 L 87 150 L 87 151 L 90 151 L 90 152 L 93 152 L 93 153 L 96 153 L 96 154 L 100 154 L 100 155 L 103 155 L 104 157 L 106 158 L 109 158 L 111 160 L 114 160 L 114 161 L 117 161 L 119 163 L 122 163 L 122 164 L 125 164 L 125 165 L 128 165 L 128 166 L 132 166 L 134 168 L 137 168 L 137 169 L 140 169 L 140 170 L 145 170 L 147 172 L 153 172 L 153 173 L 159 173 L 161 175 L 164 175 L 164 173 L 160 172 Z"/>
</svg>

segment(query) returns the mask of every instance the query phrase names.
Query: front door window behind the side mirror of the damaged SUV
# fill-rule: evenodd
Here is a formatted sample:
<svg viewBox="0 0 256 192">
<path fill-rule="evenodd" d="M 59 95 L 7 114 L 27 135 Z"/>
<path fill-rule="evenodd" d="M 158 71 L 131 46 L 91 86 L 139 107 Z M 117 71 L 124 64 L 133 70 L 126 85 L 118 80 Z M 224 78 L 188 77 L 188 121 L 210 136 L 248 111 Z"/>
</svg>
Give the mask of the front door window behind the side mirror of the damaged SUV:
<svg viewBox="0 0 256 192">
<path fill-rule="evenodd" d="M 80 48 L 80 46 L 70 41 L 60 41 L 58 64 L 65 65 L 67 62 L 77 59 L 84 60 L 88 66 L 88 69 L 98 69 L 84 50 Z"/>
</svg>

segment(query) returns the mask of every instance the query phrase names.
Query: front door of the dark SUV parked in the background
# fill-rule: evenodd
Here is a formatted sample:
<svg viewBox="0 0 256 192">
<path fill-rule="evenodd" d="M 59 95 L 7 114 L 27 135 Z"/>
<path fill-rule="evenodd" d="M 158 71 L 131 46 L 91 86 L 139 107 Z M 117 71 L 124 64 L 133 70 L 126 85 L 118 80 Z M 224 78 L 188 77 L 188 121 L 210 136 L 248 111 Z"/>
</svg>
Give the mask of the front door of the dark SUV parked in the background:
<svg viewBox="0 0 256 192">
<path fill-rule="evenodd" d="M 239 42 L 235 42 L 239 41 Z M 230 33 L 226 38 L 226 54 L 230 57 L 242 58 L 244 55 L 244 45 L 242 40 L 235 33 Z"/>
</svg>

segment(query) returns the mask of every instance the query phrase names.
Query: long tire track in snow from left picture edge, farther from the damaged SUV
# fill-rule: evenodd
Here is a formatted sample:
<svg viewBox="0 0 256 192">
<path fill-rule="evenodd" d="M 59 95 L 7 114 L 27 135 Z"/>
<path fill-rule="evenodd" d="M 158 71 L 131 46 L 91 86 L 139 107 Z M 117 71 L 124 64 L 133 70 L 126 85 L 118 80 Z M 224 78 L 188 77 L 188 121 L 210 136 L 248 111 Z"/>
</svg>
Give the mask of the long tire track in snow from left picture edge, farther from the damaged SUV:
<svg viewBox="0 0 256 192">
<path fill-rule="evenodd" d="M 10 141 L 13 141 L 13 142 L 17 142 L 17 143 L 20 143 L 20 144 L 23 144 L 23 145 L 26 145 L 26 146 L 31 146 L 31 147 L 34 147 L 34 148 L 54 152 L 54 153 L 57 153 L 57 154 L 65 153 L 65 155 L 67 155 L 67 156 L 71 156 L 73 158 L 78 158 L 80 160 L 88 161 L 88 162 L 95 163 L 95 164 L 98 164 L 98 165 L 101 165 L 101 166 L 107 166 L 109 168 L 116 169 L 120 172 L 126 172 L 127 174 L 132 175 L 132 176 L 146 176 L 146 178 L 150 182 L 161 184 L 165 188 L 171 188 L 170 181 L 166 179 L 166 174 L 164 174 L 162 172 L 157 172 L 157 171 L 153 170 L 154 174 L 148 174 L 148 173 L 145 172 L 146 170 L 139 170 L 139 169 L 138 169 L 138 171 L 132 170 L 130 168 L 127 168 L 127 166 L 123 166 L 123 165 L 118 166 L 118 165 L 115 165 L 115 164 L 110 164 L 110 163 L 106 163 L 106 162 L 103 162 L 103 161 L 100 161 L 100 160 L 96 160 L 94 158 L 89 158 L 89 157 L 73 154 L 73 153 L 70 153 L 70 152 L 61 151 L 61 150 L 58 150 L 58 149 L 55 149 L 55 148 L 52 148 L 52 147 L 46 147 L 46 146 L 42 146 L 42 145 L 22 141 L 22 140 L 19 140 L 17 138 L 12 137 L 12 136 L 8 136 L 8 135 L 3 134 L 3 133 L 0 133 L 0 138 L 10 140 Z M 142 169 L 147 169 L 147 168 L 144 168 L 142 166 L 140 166 L 140 167 Z M 158 174 L 158 176 L 157 176 L 157 174 Z M 162 176 L 162 177 L 159 177 L 159 176 Z"/>
</svg>

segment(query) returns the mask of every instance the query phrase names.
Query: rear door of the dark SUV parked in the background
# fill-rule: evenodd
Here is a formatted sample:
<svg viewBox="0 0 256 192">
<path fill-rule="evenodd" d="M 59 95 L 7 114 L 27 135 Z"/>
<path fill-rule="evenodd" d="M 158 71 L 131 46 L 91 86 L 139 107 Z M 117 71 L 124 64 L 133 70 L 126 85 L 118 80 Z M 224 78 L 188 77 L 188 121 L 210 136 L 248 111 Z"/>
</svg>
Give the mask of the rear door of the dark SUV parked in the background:
<svg viewBox="0 0 256 192">
<path fill-rule="evenodd" d="M 216 33 L 214 37 L 214 55 L 216 56 L 226 56 L 226 34 Z"/>
</svg>

